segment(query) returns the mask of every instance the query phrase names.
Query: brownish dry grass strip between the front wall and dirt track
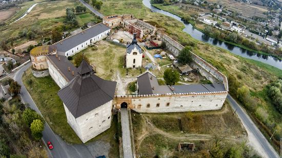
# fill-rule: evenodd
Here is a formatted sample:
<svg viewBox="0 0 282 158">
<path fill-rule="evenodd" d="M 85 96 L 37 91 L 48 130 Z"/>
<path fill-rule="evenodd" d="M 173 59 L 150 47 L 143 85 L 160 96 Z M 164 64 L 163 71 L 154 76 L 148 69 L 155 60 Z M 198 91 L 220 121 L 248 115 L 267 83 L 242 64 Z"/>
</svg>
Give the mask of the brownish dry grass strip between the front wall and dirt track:
<svg viewBox="0 0 282 158">
<path fill-rule="evenodd" d="M 183 132 L 187 134 L 216 134 L 226 136 L 244 136 L 245 130 L 233 116 L 230 105 L 226 102 L 221 110 L 176 112 L 171 114 L 145 114 L 157 128 L 166 132 L 180 134 L 179 120 L 181 119 Z"/>
</svg>

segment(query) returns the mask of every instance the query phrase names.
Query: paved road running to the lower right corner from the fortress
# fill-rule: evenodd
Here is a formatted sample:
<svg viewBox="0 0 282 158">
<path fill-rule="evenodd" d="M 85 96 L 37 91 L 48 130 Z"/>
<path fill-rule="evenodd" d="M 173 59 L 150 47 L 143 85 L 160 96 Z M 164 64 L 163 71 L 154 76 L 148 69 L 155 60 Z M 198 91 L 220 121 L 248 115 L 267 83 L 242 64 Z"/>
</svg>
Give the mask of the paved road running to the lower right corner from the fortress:
<svg viewBox="0 0 282 158">
<path fill-rule="evenodd" d="M 251 145 L 254 147 L 254 149 L 263 157 L 279 158 L 277 152 L 266 140 L 259 129 L 255 126 L 253 121 L 247 115 L 246 111 L 241 108 L 240 105 L 230 95 L 227 96 L 227 99 L 231 103 L 232 108 L 234 110 L 237 109 L 236 114 L 246 128 L 249 141 L 251 142 Z"/>
</svg>

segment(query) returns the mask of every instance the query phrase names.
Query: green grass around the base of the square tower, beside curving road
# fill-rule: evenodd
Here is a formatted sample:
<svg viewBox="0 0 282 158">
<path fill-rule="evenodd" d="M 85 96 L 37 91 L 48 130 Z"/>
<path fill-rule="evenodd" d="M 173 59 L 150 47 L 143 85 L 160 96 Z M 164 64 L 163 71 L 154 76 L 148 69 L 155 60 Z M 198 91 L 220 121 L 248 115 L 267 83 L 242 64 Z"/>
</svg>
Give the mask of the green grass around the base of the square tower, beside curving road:
<svg viewBox="0 0 282 158">
<path fill-rule="evenodd" d="M 32 99 L 36 103 L 36 106 L 39 108 L 52 130 L 70 144 L 82 144 L 73 129 L 67 123 L 63 102 L 57 95 L 57 92 L 60 89 L 58 85 L 50 76 L 44 78 L 35 78 L 32 75 L 31 69 L 26 71 L 26 75 L 27 77 L 23 75 L 22 78 L 24 84 Z M 32 80 L 31 86 L 27 83 L 27 79 Z M 116 131 L 117 117 L 113 116 L 112 126 L 110 129 L 99 134 L 97 137 L 88 142 L 98 140 L 108 142 L 111 144 L 109 154 L 114 156 L 118 155 L 118 142 L 113 137 Z"/>
</svg>

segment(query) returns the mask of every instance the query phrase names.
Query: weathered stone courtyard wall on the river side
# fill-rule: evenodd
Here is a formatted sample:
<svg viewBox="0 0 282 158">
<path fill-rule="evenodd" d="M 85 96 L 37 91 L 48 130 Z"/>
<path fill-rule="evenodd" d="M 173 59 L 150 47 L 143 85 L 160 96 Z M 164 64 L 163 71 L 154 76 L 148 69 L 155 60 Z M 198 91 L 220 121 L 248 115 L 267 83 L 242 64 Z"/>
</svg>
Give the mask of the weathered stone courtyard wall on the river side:
<svg viewBox="0 0 282 158">
<path fill-rule="evenodd" d="M 184 48 L 180 43 L 169 37 L 164 33 L 157 32 L 163 42 L 166 43 L 167 50 L 169 50 L 174 56 L 177 56 L 179 52 Z M 213 83 L 221 82 L 225 85 L 226 91 L 229 90 L 227 77 L 219 72 L 214 66 L 206 62 L 204 59 L 200 58 L 196 54 L 192 53 L 193 62 L 191 66 L 193 69 L 199 70 L 202 76 L 205 76 L 208 80 Z"/>
</svg>

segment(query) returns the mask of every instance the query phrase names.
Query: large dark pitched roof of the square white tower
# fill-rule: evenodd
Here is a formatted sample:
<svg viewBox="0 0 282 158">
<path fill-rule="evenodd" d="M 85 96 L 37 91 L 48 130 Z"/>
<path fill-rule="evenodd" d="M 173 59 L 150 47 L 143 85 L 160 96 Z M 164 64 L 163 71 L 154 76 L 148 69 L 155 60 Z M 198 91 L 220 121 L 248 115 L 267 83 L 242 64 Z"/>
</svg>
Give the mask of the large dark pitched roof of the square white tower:
<svg viewBox="0 0 282 158">
<path fill-rule="evenodd" d="M 82 70 L 84 70 L 82 66 Z M 88 65 L 89 66 L 89 65 Z M 65 103 L 74 118 L 113 100 L 116 82 L 106 81 L 98 76 L 87 73 L 77 75 L 59 92 L 58 96 Z"/>
</svg>

